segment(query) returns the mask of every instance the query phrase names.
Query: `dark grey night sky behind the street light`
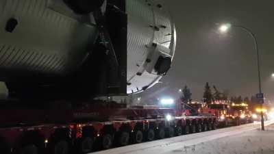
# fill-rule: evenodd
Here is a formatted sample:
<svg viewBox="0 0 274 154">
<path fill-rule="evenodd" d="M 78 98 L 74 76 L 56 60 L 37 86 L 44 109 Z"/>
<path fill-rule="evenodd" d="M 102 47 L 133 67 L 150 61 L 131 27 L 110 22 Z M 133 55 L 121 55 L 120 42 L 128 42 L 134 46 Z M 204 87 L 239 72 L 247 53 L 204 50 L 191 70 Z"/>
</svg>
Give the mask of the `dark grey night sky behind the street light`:
<svg viewBox="0 0 274 154">
<path fill-rule="evenodd" d="M 217 25 L 232 23 L 248 27 L 258 38 L 262 68 L 262 90 L 274 99 L 274 1 L 258 0 L 170 0 L 165 1 L 177 27 L 177 49 L 173 66 L 162 79 L 169 89 L 190 87 L 201 99 L 208 81 L 229 95 L 251 96 L 258 92 L 256 53 L 253 40 L 242 29 L 219 34 Z M 155 86 L 147 93 L 164 86 Z M 171 91 L 171 90 L 170 90 Z M 168 93 L 168 92 L 165 92 Z"/>
</svg>

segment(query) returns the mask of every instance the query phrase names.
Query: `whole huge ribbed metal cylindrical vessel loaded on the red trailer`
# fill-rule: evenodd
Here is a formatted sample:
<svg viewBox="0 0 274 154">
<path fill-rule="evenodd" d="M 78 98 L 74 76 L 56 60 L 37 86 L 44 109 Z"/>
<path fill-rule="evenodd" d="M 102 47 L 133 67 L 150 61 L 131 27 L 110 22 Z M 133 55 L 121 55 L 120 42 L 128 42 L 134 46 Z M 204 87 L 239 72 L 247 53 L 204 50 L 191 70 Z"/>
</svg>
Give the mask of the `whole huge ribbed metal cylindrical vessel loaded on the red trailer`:
<svg viewBox="0 0 274 154">
<path fill-rule="evenodd" d="M 71 83 L 92 94 L 141 92 L 169 70 L 175 44 L 157 1 L 0 0 L 0 80 L 14 93 Z"/>
</svg>

